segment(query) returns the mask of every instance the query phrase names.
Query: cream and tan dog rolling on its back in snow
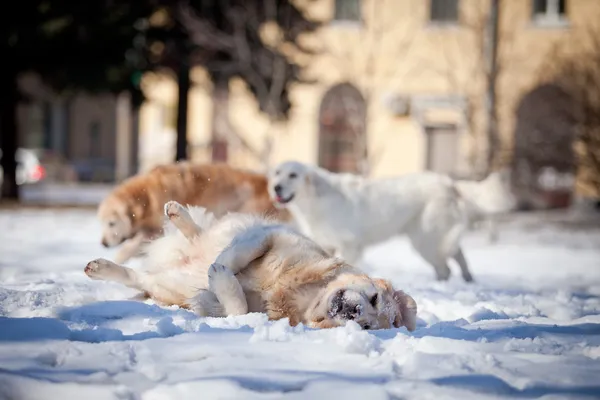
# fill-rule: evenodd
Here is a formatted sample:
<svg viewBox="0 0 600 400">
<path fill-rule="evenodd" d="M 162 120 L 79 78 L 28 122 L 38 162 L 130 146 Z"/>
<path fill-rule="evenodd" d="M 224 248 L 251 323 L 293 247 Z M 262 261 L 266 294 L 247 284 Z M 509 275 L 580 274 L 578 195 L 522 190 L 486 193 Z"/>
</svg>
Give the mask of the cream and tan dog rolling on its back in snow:
<svg viewBox="0 0 600 400">
<path fill-rule="evenodd" d="M 176 202 L 165 213 L 178 231 L 165 229 L 149 244 L 143 272 L 98 259 L 85 273 L 203 316 L 265 312 L 314 328 L 353 320 L 364 329 L 415 329 L 412 297 L 331 257 L 291 226 L 236 213 L 217 219 Z"/>
</svg>

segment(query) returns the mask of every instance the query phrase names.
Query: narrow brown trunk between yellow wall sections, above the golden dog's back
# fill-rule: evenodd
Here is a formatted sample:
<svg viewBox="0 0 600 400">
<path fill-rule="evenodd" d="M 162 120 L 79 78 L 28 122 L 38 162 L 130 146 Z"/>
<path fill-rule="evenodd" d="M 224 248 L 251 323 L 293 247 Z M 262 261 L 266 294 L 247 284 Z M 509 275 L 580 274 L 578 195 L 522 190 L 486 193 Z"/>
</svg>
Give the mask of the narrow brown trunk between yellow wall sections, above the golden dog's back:
<svg viewBox="0 0 600 400">
<path fill-rule="evenodd" d="M 229 82 L 226 79 L 215 82 L 212 97 L 212 161 L 226 162 L 229 131 L 232 129 L 229 123 Z"/>
</svg>

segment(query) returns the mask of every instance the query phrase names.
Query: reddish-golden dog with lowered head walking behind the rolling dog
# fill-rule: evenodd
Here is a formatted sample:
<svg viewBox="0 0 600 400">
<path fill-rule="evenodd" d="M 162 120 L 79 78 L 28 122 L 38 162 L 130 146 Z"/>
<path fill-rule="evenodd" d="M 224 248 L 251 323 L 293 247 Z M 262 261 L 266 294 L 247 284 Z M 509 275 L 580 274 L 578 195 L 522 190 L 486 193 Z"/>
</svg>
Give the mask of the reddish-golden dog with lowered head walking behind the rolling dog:
<svg viewBox="0 0 600 400">
<path fill-rule="evenodd" d="M 261 174 L 226 164 L 163 165 L 125 180 L 100 204 L 102 245 L 123 244 L 115 261 L 139 255 L 143 243 L 161 234 L 163 205 L 169 200 L 202 206 L 217 216 L 236 211 L 291 221 L 286 211 L 273 207 Z"/>
</svg>

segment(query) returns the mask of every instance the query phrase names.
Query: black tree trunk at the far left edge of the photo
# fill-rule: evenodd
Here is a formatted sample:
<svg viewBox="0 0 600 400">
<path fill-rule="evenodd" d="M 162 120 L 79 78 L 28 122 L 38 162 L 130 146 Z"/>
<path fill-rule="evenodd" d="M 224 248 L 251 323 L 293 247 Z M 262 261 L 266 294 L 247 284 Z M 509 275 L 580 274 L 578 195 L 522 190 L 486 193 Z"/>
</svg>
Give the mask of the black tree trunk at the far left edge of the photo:
<svg viewBox="0 0 600 400">
<path fill-rule="evenodd" d="M 19 93 L 17 75 L 4 75 L 0 87 L 0 148 L 2 149 L 3 179 L 0 200 L 18 200 L 17 186 L 17 106 Z"/>
</svg>

